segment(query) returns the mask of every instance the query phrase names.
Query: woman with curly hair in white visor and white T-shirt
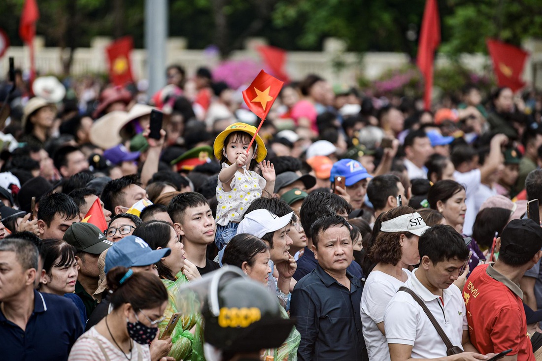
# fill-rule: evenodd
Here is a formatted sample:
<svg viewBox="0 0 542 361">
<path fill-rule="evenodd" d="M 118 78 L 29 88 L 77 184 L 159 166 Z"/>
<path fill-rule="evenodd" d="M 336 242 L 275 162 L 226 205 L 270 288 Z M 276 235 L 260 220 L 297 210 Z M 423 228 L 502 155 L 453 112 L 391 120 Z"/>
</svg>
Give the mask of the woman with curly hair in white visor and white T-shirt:
<svg viewBox="0 0 542 361">
<path fill-rule="evenodd" d="M 406 268 L 420 262 L 418 239 L 429 228 L 410 207 L 394 208 L 379 218 L 380 231 L 367 254 L 376 266 L 365 281 L 361 302 L 363 337 L 372 361 L 390 359 L 384 311 L 399 287 L 410 278 Z"/>
</svg>

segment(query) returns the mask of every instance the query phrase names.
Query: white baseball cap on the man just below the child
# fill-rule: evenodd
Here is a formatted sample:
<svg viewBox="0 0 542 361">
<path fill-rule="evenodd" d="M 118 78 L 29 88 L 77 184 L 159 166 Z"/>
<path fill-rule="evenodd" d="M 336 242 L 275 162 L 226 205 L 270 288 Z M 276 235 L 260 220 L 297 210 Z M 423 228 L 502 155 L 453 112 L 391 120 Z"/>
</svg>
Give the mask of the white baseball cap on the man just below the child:
<svg viewBox="0 0 542 361">
<path fill-rule="evenodd" d="M 261 238 L 267 233 L 286 227 L 292 222 L 293 215 L 294 212 L 290 212 L 279 217 L 267 209 L 256 209 L 244 215 L 243 220 L 239 222 L 236 234 L 248 233 Z"/>
</svg>

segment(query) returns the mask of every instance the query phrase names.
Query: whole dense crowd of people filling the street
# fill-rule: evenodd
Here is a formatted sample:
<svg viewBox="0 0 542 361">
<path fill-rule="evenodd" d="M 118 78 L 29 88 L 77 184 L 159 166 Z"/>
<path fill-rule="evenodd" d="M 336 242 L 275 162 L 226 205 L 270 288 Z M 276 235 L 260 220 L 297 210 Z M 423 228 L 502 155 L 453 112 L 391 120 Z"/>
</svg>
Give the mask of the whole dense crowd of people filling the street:
<svg viewBox="0 0 542 361">
<path fill-rule="evenodd" d="M 0 358 L 542 360 L 536 93 L 166 75 L 0 86 Z"/>
</svg>

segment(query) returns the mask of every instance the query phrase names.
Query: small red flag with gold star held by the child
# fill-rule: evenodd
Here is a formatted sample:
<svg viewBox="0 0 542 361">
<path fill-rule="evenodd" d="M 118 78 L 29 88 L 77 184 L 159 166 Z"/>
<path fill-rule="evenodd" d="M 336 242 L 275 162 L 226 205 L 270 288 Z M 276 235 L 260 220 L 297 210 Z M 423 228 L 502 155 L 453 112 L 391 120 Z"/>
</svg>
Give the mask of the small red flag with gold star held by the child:
<svg viewBox="0 0 542 361">
<path fill-rule="evenodd" d="M 250 86 L 243 91 L 244 102 L 254 114 L 264 120 L 275 99 L 279 96 L 283 85 L 283 81 L 262 70 Z"/>
</svg>

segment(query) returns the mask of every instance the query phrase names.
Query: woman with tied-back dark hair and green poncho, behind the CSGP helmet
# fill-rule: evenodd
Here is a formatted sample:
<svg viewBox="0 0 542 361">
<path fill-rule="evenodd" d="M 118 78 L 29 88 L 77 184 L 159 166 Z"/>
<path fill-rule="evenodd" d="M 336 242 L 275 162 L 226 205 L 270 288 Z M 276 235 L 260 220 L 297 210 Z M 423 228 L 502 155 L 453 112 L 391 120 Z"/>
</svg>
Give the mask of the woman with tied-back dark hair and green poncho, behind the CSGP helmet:
<svg viewBox="0 0 542 361">
<path fill-rule="evenodd" d="M 238 234 L 231 238 L 224 248 L 222 263 L 224 265 L 236 266 L 249 276 L 249 278 L 267 286 L 269 273 L 269 247 L 260 238 L 246 233 Z M 288 313 L 283 307 L 279 307 L 282 318 L 287 319 Z M 292 329 L 290 335 L 278 349 L 266 350 L 264 356 L 273 356 L 275 360 L 297 360 L 298 346 L 301 341 L 301 334 Z"/>
</svg>

